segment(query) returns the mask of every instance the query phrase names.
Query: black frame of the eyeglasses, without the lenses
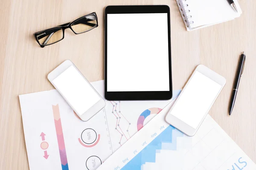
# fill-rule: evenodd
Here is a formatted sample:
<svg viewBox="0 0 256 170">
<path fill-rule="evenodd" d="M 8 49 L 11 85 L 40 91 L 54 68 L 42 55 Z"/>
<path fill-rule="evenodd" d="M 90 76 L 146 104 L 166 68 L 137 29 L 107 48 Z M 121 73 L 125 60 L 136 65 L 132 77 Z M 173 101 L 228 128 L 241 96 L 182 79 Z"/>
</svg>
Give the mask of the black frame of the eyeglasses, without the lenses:
<svg viewBox="0 0 256 170">
<path fill-rule="evenodd" d="M 60 26 L 56 26 L 56 27 L 53 27 L 53 28 L 45 29 L 45 30 L 43 30 L 43 31 L 35 32 L 35 33 L 34 33 L 35 40 L 38 42 L 38 44 L 39 44 L 42 48 L 44 48 L 44 46 L 52 45 L 52 44 L 55 44 L 56 42 L 59 42 L 59 41 L 63 40 L 64 37 L 65 37 L 64 32 L 65 32 L 65 29 L 67 29 L 67 28 L 70 28 L 70 29 L 73 31 L 73 33 L 75 33 L 75 34 L 82 34 L 82 33 L 85 33 L 85 32 L 87 32 L 87 31 L 90 31 L 90 30 L 92 30 L 93 28 L 90 28 L 89 30 L 84 31 L 84 32 L 76 33 L 76 32 L 72 29 L 72 27 L 71 27 L 72 24 L 75 23 L 76 21 L 81 20 L 82 18 L 87 17 L 87 16 L 90 16 L 90 15 L 94 15 L 95 18 L 96 18 L 96 25 L 93 26 L 93 28 L 98 27 L 98 26 L 99 26 L 99 25 L 98 25 L 98 17 L 97 17 L 97 15 L 96 15 L 96 12 L 93 12 L 93 13 L 84 15 L 83 17 L 80 17 L 80 18 L 76 19 L 76 20 L 72 21 L 71 23 L 65 23 L 65 24 L 62 24 L 62 25 L 60 25 Z M 53 42 L 53 43 L 51 43 L 51 44 L 41 44 L 41 43 L 39 42 L 39 40 L 38 40 L 38 38 L 37 38 L 38 35 L 44 33 L 45 31 L 49 31 L 49 30 L 56 29 L 56 28 L 61 28 L 62 31 L 63 31 L 63 37 L 62 37 L 61 40 L 58 40 L 58 41 Z"/>
</svg>

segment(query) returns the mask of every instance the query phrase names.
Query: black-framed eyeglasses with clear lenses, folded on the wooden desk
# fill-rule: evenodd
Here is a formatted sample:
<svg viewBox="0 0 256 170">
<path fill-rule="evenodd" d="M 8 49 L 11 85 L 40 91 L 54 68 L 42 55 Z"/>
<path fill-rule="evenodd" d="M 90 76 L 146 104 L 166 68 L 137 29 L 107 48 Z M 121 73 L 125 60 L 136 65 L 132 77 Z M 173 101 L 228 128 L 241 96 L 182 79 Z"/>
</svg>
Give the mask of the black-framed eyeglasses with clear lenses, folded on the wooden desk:
<svg viewBox="0 0 256 170">
<path fill-rule="evenodd" d="M 71 23 L 66 23 L 54 28 L 34 33 L 35 40 L 43 48 L 64 39 L 64 31 L 70 28 L 75 34 L 81 34 L 98 26 L 98 18 L 95 12 L 80 17 Z"/>
</svg>

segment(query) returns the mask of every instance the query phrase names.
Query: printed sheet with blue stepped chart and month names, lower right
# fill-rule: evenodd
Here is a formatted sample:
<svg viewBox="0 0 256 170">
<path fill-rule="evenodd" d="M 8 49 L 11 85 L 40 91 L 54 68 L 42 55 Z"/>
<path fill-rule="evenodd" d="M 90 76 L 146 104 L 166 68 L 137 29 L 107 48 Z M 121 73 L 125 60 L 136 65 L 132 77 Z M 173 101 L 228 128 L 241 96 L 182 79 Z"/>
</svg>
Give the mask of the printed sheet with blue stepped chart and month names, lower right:
<svg viewBox="0 0 256 170">
<path fill-rule="evenodd" d="M 172 103 L 97 170 L 256 170 L 211 116 L 193 137 L 167 124 L 164 117 Z"/>
</svg>

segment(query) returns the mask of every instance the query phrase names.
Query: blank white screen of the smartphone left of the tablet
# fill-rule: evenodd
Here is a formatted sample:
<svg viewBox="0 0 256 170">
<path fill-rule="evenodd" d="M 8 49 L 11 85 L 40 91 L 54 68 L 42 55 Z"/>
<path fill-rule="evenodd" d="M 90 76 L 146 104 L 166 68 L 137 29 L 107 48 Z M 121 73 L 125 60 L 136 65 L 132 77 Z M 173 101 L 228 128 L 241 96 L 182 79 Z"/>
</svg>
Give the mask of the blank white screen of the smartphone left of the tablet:
<svg viewBox="0 0 256 170">
<path fill-rule="evenodd" d="M 52 84 L 80 116 L 101 99 L 73 65 L 53 79 Z"/>
</svg>

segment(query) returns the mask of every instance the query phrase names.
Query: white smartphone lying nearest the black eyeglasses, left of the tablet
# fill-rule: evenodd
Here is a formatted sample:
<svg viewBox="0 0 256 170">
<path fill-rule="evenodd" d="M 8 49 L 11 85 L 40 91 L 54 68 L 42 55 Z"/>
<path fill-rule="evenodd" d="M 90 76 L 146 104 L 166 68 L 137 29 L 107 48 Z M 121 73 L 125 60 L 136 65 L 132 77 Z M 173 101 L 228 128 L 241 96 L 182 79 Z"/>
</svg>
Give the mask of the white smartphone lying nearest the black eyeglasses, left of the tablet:
<svg viewBox="0 0 256 170">
<path fill-rule="evenodd" d="M 62 62 L 47 78 L 83 121 L 89 120 L 106 105 L 70 60 Z"/>
</svg>

